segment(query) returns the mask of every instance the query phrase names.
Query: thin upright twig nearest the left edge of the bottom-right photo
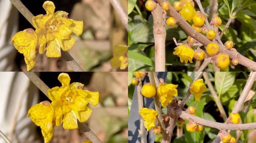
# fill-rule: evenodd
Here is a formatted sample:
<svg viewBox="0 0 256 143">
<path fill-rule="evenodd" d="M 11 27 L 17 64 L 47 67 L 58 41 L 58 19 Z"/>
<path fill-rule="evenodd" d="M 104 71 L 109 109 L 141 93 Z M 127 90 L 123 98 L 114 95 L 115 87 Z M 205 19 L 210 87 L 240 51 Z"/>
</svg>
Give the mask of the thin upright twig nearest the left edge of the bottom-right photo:
<svg viewBox="0 0 256 143">
<path fill-rule="evenodd" d="M 144 107 L 143 96 L 141 95 L 142 82 L 139 79 L 139 83 L 137 85 L 137 96 L 138 96 L 138 111 Z M 144 127 L 144 119 L 140 116 L 140 130 L 138 131 L 140 134 L 141 143 L 147 143 L 147 131 Z"/>
</svg>

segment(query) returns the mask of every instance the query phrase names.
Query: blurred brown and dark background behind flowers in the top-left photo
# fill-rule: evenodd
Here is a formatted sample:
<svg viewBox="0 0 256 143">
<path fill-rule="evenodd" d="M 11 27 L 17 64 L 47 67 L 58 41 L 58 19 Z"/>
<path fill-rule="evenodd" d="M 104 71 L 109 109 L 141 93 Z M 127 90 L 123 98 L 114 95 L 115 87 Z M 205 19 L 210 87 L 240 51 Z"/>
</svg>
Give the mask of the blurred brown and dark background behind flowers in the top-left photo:
<svg viewBox="0 0 256 143">
<path fill-rule="evenodd" d="M 46 0 L 21 0 L 34 16 L 46 14 Z M 116 71 L 110 66 L 115 45 L 127 45 L 127 31 L 109 0 L 52 0 L 55 12 L 69 13 L 74 20 L 83 20 L 83 33 L 74 36 L 76 43 L 68 51 L 84 71 Z M 127 10 L 128 1 L 120 0 Z M 0 1 L 0 71 L 26 69 L 24 56 L 10 44 L 12 36 L 33 26 L 22 16 L 9 0 Z M 34 29 L 34 28 L 33 28 Z M 47 58 L 38 54 L 32 71 L 66 71 L 71 68 L 63 58 Z"/>
</svg>

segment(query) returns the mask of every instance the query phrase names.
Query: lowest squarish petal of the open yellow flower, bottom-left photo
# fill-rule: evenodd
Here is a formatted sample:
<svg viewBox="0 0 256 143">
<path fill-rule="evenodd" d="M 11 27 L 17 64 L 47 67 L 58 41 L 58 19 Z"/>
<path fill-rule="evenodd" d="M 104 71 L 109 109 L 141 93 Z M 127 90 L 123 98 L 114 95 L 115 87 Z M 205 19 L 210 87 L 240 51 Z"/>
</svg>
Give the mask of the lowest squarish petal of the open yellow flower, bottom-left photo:
<svg viewBox="0 0 256 143">
<path fill-rule="evenodd" d="M 77 117 L 74 111 L 64 114 L 63 128 L 65 129 L 77 128 Z"/>
</svg>

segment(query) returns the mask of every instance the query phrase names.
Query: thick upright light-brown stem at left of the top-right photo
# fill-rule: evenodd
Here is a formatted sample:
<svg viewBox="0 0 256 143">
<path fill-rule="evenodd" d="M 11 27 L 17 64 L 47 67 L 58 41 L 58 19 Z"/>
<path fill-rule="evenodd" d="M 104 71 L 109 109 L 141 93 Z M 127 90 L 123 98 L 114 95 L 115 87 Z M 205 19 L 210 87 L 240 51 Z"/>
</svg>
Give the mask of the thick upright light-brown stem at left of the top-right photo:
<svg viewBox="0 0 256 143">
<path fill-rule="evenodd" d="M 155 39 L 155 71 L 165 71 L 165 11 L 157 4 L 156 9 L 152 11 L 152 16 Z"/>
</svg>

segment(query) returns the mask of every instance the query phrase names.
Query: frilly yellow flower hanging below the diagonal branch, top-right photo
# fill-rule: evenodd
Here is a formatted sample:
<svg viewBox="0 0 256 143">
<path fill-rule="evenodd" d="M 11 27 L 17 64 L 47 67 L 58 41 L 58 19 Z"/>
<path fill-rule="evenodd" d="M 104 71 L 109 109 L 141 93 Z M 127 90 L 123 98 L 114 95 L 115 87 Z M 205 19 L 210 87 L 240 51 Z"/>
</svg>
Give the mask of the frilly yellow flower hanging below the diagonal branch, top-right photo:
<svg viewBox="0 0 256 143">
<path fill-rule="evenodd" d="M 188 44 L 180 45 L 174 48 L 174 50 L 173 54 L 180 57 L 180 62 L 183 63 L 185 61 L 185 63 L 188 63 L 189 61 L 193 63 L 194 50 Z"/>
</svg>

